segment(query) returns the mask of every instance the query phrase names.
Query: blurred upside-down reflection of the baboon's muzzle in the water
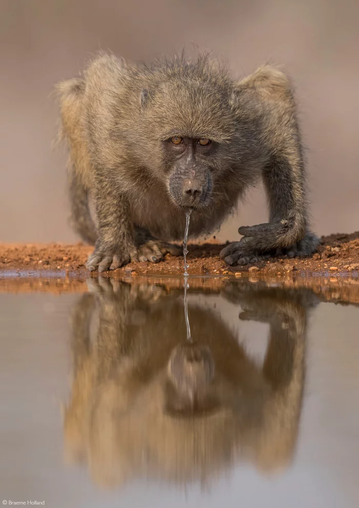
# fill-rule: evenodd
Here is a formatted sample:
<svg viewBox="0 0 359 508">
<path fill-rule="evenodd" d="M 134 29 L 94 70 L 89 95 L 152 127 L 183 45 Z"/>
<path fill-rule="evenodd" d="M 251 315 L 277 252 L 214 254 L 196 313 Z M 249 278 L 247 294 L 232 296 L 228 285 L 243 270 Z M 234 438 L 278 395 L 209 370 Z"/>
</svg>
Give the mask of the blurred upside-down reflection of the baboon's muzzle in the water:
<svg viewBox="0 0 359 508">
<path fill-rule="evenodd" d="M 173 349 L 168 374 L 177 394 L 190 405 L 205 398 L 214 376 L 214 361 L 208 347 L 180 345 Z"/>
</svg>

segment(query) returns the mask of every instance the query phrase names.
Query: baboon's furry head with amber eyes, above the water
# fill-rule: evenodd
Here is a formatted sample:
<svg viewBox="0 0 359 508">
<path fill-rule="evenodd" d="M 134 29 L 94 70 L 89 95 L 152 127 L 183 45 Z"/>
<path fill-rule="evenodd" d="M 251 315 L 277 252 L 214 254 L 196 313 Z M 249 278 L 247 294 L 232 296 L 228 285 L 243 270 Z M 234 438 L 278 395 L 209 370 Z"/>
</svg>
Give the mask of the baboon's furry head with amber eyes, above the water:
<svg viewBox="0 0 359 508">
<path fill-rule="evenodd" d="M 236 159 L 233 84 L 208 62 L 167 72 L 153 73 L 157 83 L 141 92 L 147 149 L 171 201 L 182 208 L 203 208 Z"/>
</svg>

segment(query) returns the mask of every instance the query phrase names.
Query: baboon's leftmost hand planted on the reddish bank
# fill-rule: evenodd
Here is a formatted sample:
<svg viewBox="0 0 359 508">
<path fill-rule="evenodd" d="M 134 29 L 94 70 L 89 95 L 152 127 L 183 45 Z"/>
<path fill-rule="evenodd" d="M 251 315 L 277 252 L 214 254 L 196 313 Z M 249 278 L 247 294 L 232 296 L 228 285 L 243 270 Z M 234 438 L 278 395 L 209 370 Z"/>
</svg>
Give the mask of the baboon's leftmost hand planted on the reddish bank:
<svg viewBox="0 0 359 508">
<path fill-rule="evenodd" d="M 115 270 L 126 265 L 131 260 L 137 259 L 136 248 L 124 248 L 119 246 L 103 246 L 96 245 L 95 250 L 88 257 L 86 268 L 94 271 L 98 267 L 98 271 Z"/>
</svg>

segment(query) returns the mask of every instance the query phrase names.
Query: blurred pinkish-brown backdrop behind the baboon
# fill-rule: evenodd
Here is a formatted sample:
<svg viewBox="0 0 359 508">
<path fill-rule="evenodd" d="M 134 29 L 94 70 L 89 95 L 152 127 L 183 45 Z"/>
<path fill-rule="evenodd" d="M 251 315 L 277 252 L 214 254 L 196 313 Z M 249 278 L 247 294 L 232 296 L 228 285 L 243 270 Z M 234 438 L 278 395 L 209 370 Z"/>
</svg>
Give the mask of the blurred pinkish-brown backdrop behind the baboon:
<svg viewBox="0 0 359 508">
<path fill-rule="evenodd" d="M 359 229 L 357 0 L 0 0 L 0 241 L 74 242 L 53 85 L 98 49 L 150 61 L 192 44 L 241 77 L 283 65 L 297 88 L 317 233 Z M 238 215 L 240 217 L 238 217 Z M 266 221 L 253 189 L 217 238 Z"/>
</svg>

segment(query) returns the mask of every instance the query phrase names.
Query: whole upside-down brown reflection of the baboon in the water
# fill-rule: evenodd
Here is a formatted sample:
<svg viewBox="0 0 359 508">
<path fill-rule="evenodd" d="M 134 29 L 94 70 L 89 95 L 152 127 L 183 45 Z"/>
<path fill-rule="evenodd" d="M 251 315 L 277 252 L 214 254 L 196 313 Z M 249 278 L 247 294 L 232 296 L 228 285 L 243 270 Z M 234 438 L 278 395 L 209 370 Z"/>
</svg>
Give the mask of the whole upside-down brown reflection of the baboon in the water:
<svg viewBox="0 0 359 508">
<path fill-rule="evenodd" d="M 275 471 L 295 450 L 305 380 L 310 290 L 228 282 L 240 319 L 269 323 L 263 365 L 230 326 L 164 286 L 89 281 L 72 315 L 74 376 L 65 451 L 95 483 L 186 484 L 241 461 Z"/>
</svg>

